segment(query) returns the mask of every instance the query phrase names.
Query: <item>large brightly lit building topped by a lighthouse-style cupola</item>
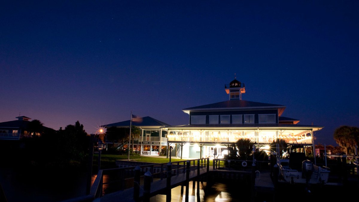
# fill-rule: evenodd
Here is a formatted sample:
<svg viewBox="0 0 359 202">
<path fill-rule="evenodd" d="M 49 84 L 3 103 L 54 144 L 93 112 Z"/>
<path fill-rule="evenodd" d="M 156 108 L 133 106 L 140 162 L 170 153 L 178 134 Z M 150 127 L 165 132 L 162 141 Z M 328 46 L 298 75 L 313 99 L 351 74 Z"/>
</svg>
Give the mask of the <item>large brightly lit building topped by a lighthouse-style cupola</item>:
<svg viewBox="0 0 359 202">
<path fill-rule="evenodd" d="M 266 146 L 275 139 L 314 147 L 313 132 L 321 126 L 299 125 L 299 120 L 282 116 L 286 106 L 242 100 L 244 83 L 234 79 L 225 85 L 229 100 L 188 107 L 182 111 L 189 124 L 165 126 L 169 146 L 185 158 L 222 158 L 228 146 L 240 138 Z"/>
</svg>

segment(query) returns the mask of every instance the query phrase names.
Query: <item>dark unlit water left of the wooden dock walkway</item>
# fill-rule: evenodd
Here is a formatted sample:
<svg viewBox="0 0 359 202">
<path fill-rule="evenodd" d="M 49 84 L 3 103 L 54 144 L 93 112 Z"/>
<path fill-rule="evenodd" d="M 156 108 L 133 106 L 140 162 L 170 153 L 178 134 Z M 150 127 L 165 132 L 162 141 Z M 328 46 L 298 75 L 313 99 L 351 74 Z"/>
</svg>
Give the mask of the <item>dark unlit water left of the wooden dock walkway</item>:
<svg viewBox="0 0 359 202">
<path fill-rule="evenodd" d="M 0 168 L 0 183 L 8 202 L 55 202 L 86 194 L 85 173 L 38 173 Z"/>
</svg>

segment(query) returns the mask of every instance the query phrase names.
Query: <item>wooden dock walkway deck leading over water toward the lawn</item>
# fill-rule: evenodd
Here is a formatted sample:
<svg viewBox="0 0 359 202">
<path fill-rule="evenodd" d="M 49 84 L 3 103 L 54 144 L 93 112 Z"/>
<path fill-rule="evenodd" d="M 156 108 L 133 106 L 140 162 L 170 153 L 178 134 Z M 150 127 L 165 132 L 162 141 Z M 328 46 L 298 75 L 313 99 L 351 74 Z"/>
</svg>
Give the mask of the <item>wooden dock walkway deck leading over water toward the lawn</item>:
<svg viewBox="0 0 359 202">
<path fill-rule="evenodd" d="M 209 168 L 212 171 L 212 167 Z M 200 175 L 207 173 L 207 168 L 200 168 Z M 197 177 L 197 170 L 190 172 L 190 181 L 194 180 Z M 171 178 L 171 188 L 177 187 L 182 183 L 186 182 L 186 173 L 174 175 Z M 157 180 L 151 183 L 150 196 L 155 196 L 157 194 L 163 193 L 166 189 L 166 179 Z M 109 193 L 101 197 L 101 202 L 112 202 L 112 201 L 134 201 L 134 188 L 125 189 L 122 191 Z M 140 186 L 140 198 L 143 197 L 143 185 Z"/>
</svg>

